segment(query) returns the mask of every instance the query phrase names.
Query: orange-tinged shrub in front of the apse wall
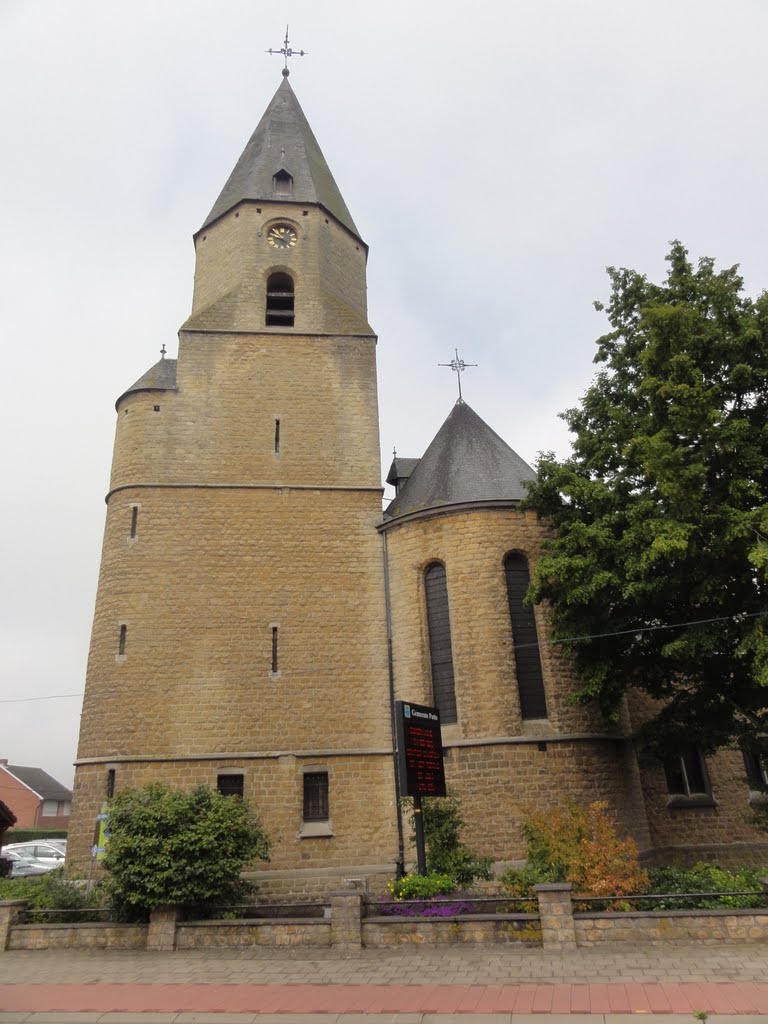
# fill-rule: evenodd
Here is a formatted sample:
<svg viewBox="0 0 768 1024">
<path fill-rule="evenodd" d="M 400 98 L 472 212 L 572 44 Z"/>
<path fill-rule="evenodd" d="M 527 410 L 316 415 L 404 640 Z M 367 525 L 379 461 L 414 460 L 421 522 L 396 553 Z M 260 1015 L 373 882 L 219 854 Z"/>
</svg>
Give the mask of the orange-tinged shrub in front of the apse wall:
<svg viewBox="0 0 768 1024">
<path fill-rule="evenodd" d="M 527 864 L 502 877 L 502 884 L 516 896 L 526 896 L 545 882 L 570 882 L 574 892 L 590 896 L 626 896 L 648 889 L 637 846 L 618 837 L 604 801 L 537 811 L 522 833 Z"/>
</svg>

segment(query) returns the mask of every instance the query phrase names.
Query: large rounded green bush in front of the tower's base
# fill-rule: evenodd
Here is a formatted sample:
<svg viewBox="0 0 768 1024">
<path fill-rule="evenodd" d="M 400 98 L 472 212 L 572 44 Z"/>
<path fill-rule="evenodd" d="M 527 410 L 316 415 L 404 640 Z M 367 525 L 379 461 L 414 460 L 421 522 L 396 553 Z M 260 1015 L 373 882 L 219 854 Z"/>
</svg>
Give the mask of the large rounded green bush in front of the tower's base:
<svg viewBox="0 0 768 1024">
<path fill-rule="evenodd" d="M 269 839 L 248 805 L 209 786 L 126 790 L 109 812 L 103 885 L 128 913 L 237 900 L 245 893 L 245 865 L 269 859 Z"/>
</svg>

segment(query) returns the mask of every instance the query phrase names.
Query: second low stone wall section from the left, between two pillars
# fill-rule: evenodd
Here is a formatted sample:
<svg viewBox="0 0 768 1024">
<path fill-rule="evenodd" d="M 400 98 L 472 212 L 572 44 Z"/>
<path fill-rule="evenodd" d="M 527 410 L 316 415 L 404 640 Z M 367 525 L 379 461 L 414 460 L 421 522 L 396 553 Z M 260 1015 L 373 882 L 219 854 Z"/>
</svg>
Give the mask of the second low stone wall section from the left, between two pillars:
<svg viewBox="0 0 768 1024">
<path fill-rule="evenodd" d="M 330 946 L 331 922 L 291 918 L 186 921 L 176 926 L 177 949 L 216 946 Z"/>
</svg>

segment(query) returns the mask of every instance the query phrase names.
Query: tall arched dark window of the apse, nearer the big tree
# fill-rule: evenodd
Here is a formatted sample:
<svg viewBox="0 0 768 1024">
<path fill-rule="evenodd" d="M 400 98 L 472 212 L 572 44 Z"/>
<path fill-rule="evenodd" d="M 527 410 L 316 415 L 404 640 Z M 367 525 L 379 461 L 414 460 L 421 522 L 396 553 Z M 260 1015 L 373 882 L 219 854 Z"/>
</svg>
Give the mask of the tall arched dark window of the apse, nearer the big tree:
<svg viewBox="0 0 768 1024">
<path fill-rule="evenodd" d="M 544 692 L 542 659 L 539 656 L 536 617 L 534 609 L 523 603 L 530 583 L 527 559 L 519 552 L 507 555 L 504 572 L 507 578 L 509 617 L 512 621 L 520 714 L 524 719 L 547 718 L 547 697 Z"/>
</svg>

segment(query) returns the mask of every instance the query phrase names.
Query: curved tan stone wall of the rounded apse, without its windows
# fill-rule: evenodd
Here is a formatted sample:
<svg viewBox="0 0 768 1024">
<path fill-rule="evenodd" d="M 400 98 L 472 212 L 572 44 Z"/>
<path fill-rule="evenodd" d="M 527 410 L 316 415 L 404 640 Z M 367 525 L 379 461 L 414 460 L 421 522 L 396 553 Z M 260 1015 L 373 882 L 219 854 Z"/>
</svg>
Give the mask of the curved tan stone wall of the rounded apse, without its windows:
<svg viewBox="0 0 768 1024">
<path fill-rule="evenodd" d="M 449 785 L 462 801 L 477 853 L 521 860 L 520 824 L 532 807 L 606 800 L 623 830 L 649 845 L 634 753 L 621 730 L 568 702 L 570 662 L 535 609 L 549 718 L 523 722 L 517 694 L 504 559 L 536 564 L 546 530 L 532 513 L 476 509 L 387 528 L 396 695 L 431 703 L 423 574 L 445 565 L 459 721 L 443 727 Z"/>
</svg>

